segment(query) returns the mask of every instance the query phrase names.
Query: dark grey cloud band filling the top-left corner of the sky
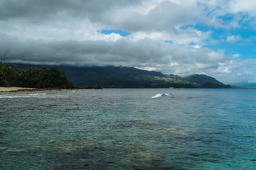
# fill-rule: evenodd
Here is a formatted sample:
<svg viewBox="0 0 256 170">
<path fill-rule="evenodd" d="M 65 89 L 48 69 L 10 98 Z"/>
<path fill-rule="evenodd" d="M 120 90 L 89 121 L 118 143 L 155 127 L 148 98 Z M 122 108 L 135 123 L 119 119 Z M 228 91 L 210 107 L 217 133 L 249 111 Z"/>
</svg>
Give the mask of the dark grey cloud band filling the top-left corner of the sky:
<svg viewBox="0 0 256 170">
<path fill-rule="evenodd" d="M 118 6 L 139 4 L 137 0 L 4 0 L 0 1 L 0 19 L 50 19 L 50 16 L 68 15 L 99 19 L 105 11 Z"/>
</svg>

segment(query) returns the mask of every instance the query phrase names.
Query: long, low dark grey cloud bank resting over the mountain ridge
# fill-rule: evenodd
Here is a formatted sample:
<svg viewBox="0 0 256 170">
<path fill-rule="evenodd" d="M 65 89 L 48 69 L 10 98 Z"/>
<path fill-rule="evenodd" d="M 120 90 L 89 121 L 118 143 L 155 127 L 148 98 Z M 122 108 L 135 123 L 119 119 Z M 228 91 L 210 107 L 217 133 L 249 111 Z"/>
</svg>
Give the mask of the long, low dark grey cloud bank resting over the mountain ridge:
<svg viewBox="0 0 256 170">
<path fill-rule="evenodd" d="M 136 42 L 126 39 L 114 42 L 103 40 L 18 40 L 10 38 L 8 35 L 1 35 L 1 38 L 0 58 L 9 62 L 124 66 L 165 64 L 169 67 L 173 62 L 191 65 L 212 63 L 208 49 L 200 49 L 195 52 L 191 47 L 166 44 L 161 40 L 149 38 Z M 224 61 L 225 56 L 220 54 L 219 60 Z"/>
</svg>

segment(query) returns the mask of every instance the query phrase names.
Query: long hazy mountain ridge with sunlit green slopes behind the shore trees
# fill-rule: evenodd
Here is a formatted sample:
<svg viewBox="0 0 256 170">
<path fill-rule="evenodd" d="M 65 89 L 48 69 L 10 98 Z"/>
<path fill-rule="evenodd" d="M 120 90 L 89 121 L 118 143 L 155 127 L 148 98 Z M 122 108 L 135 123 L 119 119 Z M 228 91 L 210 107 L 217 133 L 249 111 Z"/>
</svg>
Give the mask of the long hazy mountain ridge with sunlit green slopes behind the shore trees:
<svg viewBox="0 0 256 170">
<path fill-rule="evenodd" d="M 28 67 L 53 67 L 48 65 L 10 64 L 20 69 Z M 229 88 L 213 77 L 194 74 L 188 77 L 178 77 L 174 74 L 146 71 L 134 67 L 93 66 L 72 67 L 54 66 L 62 69 L 67 78 L 75 86 L 103 86 L 105 88 Z M 210 84 L 209 84 L 210 83 Z"/>
</svg>

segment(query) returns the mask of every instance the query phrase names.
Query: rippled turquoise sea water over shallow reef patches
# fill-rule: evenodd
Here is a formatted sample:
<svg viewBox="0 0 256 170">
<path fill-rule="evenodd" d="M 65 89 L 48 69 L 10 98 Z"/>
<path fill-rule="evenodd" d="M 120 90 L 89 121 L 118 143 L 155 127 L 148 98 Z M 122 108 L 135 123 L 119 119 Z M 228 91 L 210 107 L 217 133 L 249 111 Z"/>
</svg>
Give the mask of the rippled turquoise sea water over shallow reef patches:
<svg viewBox="0 0 256 170">
<path fill-rule="evenodd" d="M 0 169 L 256 169 L 253 89 L 1 93 L 0 108 Z"/>
</svg>

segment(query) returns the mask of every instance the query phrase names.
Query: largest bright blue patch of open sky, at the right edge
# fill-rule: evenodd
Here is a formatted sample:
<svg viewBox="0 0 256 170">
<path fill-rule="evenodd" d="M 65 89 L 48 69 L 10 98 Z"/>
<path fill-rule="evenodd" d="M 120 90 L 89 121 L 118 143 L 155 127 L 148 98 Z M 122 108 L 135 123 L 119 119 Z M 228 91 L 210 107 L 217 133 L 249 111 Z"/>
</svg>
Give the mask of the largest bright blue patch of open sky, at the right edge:
<svg viewBox="0 0 256 170">
<path fill-rule="evenodd" d="M 237 28 L 214 28 L 198 23 L 182 26 L 180 29 L 193 28 L 202 32 L 210 31 L 210 40 L 207 40 L 207 45 L 202 45 L 202 47 L 208 47 L 212 50 L 225 50 L 227 56 L 240 54 L 241 59 L 256 58 L 256 30 L 248 26 L 246 21 L 243 21 L 246 17 L 245 15 L 240 18 Z M 230 21 L 235 20 L 234 15 L 220 18 L 226 26 Z M 189 45 L 195 45 L 195 43 L 191 42 Z"/>
</svg>

